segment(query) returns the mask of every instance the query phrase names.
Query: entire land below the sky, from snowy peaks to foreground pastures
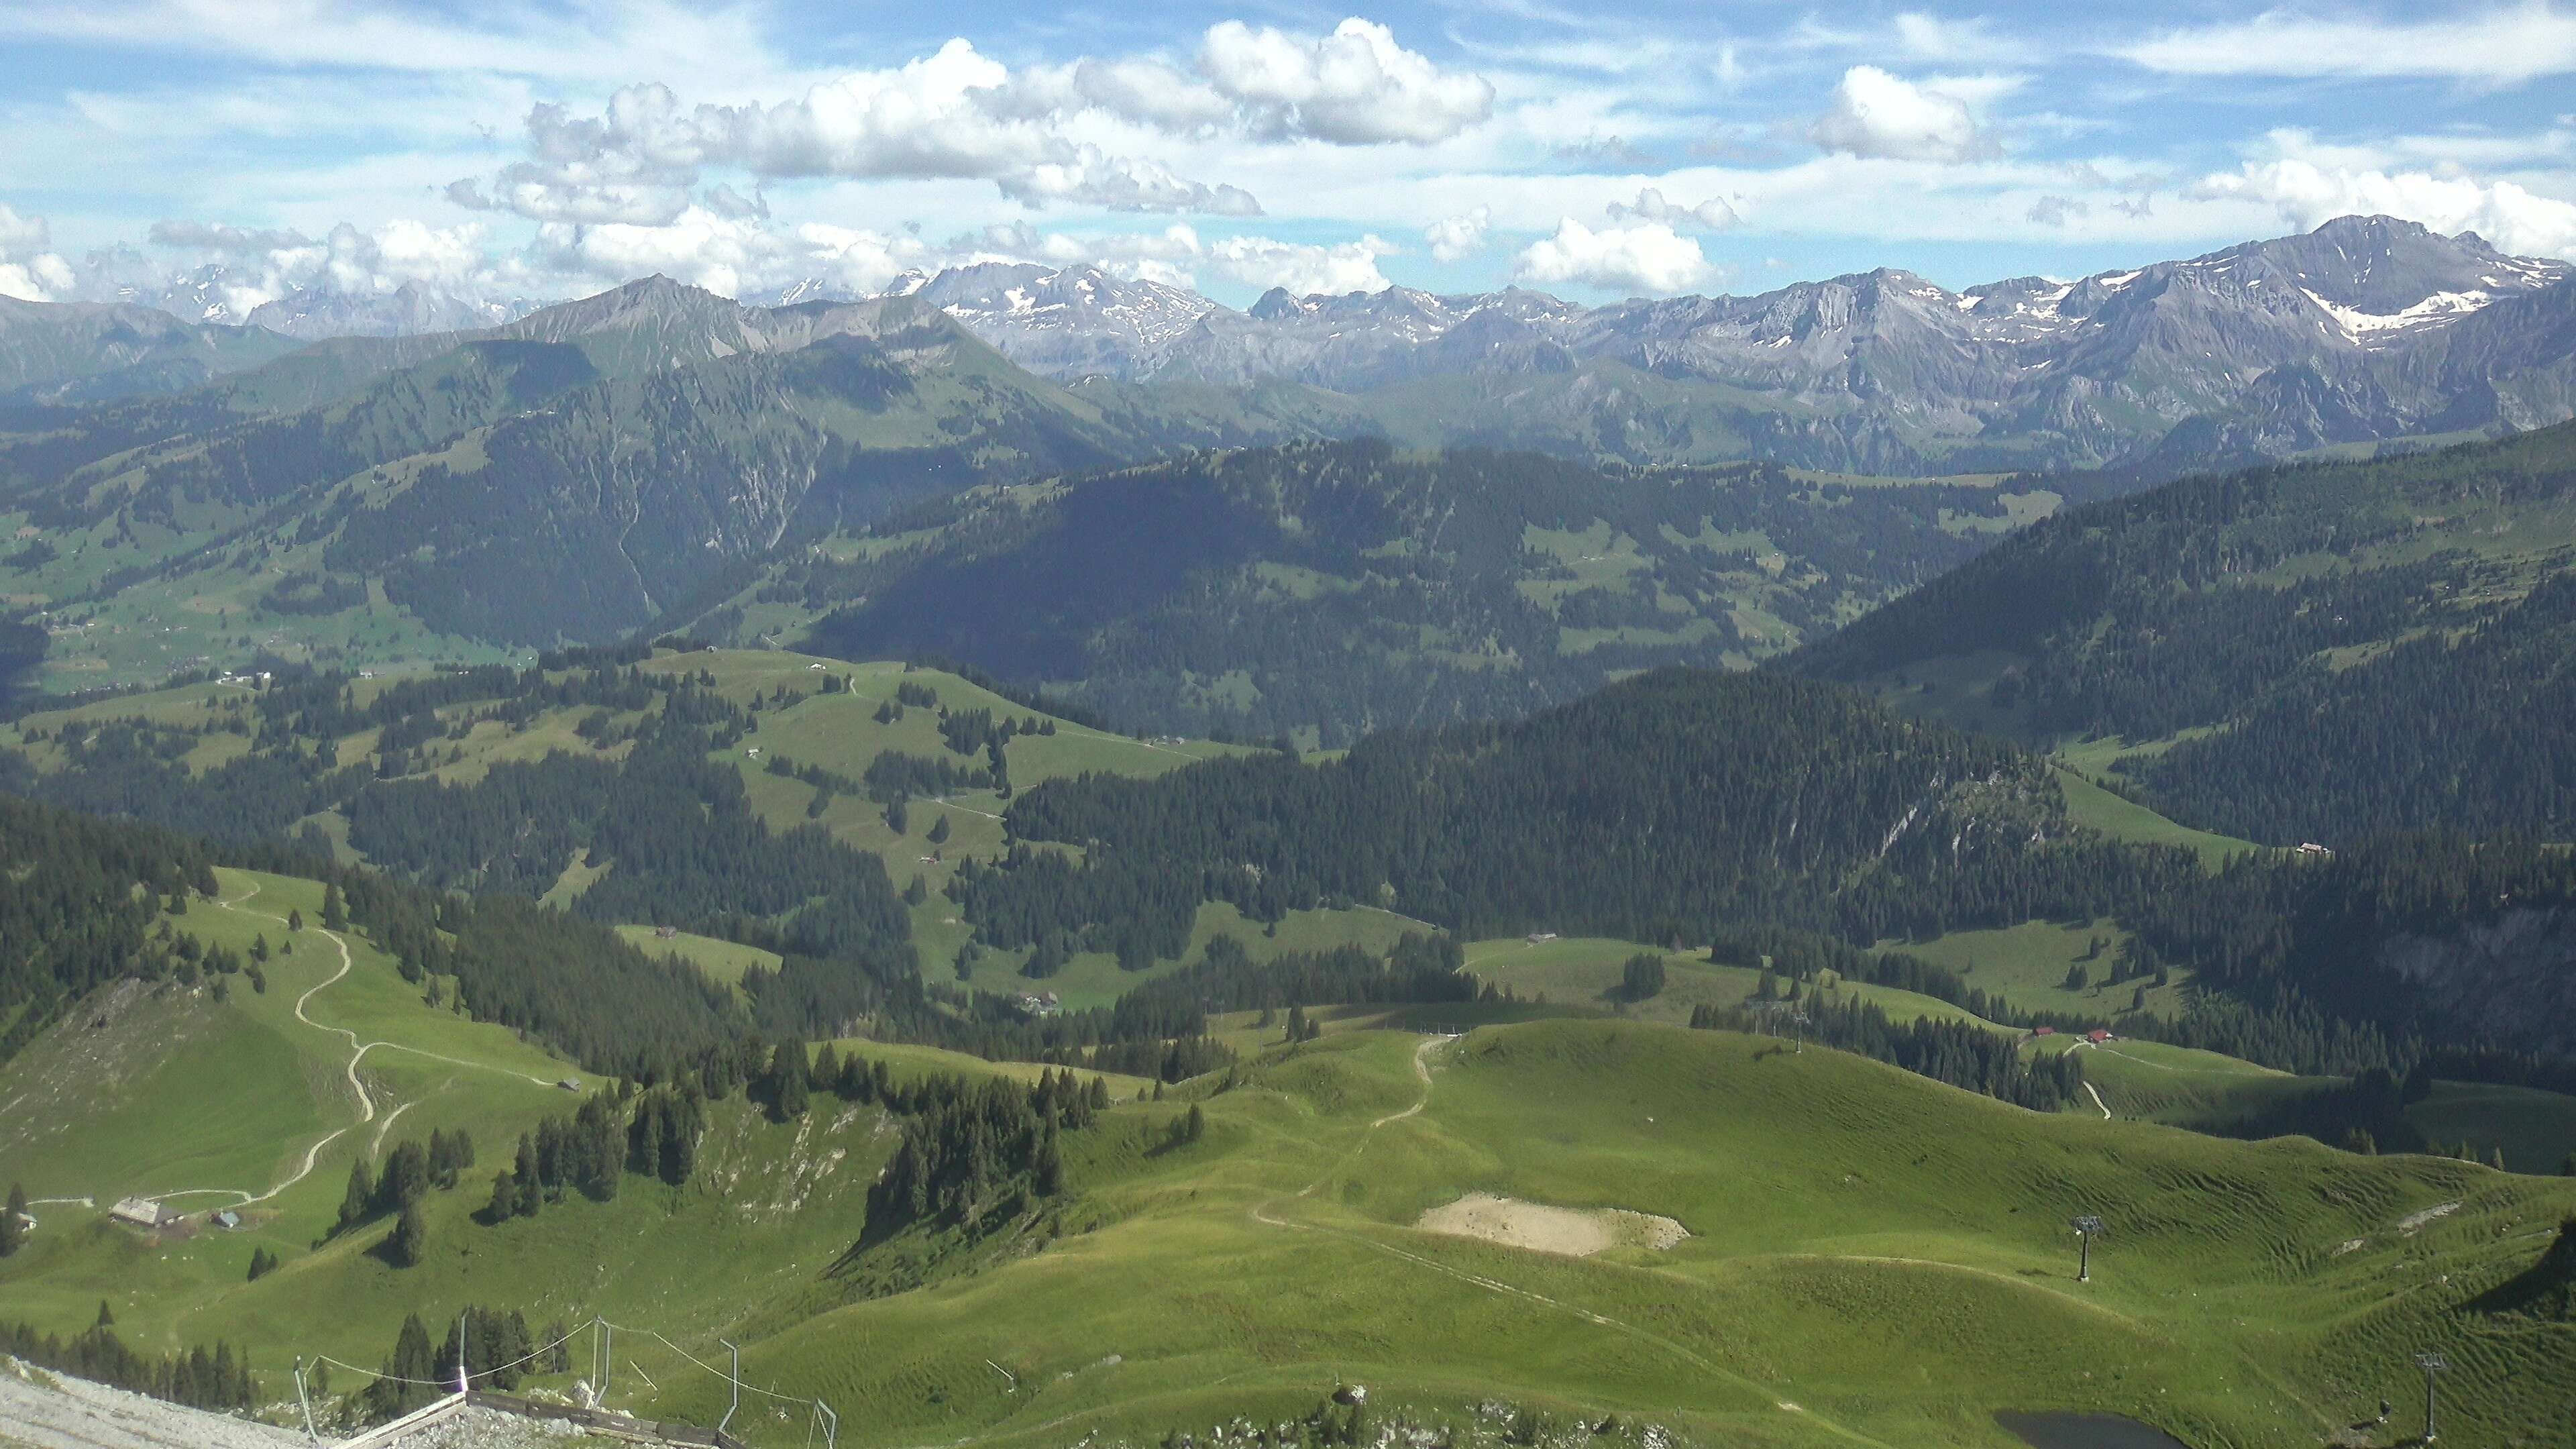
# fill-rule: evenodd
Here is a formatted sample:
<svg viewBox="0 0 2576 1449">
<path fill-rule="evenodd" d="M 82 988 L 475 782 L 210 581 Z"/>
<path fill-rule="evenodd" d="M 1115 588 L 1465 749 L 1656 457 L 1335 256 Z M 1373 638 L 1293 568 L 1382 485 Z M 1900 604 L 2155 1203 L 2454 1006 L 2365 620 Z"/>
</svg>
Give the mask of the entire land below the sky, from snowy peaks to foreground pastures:
<svg viewBox="0 0 2576 1449">
<path fill-rule="evenodd" d="M 2563 260 L 729 291 L 0 302 L 0 1413 L 2566 1441 Z"/>
</svg>

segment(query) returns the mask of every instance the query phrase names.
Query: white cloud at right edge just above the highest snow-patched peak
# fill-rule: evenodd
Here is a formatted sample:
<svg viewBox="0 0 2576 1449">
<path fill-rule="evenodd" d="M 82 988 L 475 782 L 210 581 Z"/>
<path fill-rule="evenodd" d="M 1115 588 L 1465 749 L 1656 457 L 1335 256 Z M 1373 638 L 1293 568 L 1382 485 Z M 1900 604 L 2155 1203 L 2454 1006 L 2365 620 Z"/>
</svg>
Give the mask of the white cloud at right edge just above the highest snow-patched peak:
<svg viewBox="0 0 2576 1449">
<path fill-rule="evenodd" d="M 2334 217 L 2385 214 L 2421 222 L 2434 232 L 2478 232 L 2509 253 L 2576 258 L 2576 204 L 2537 196 L 2512 180 L 2481 183 L 2465 175 L 2360 170 L 2280 157 L 2205 175 L 2192 193 L 2262 201 L 2300 229 Z"/>
</svg>

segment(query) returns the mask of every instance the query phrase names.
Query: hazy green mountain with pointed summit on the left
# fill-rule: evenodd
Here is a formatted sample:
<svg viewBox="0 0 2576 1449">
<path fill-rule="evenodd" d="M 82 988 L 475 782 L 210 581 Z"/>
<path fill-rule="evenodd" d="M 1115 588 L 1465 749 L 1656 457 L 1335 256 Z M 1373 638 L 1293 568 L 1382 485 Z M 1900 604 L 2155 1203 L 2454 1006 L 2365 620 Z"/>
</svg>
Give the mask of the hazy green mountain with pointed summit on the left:
<svg viewBox="0 0 2576 1449">
<path fill-rule="evenodd" d="M 647 278 L 0 431 L 0 508 L 44 544 L 0 559 L 0 590 L 62 606 L 188 580 L 304 619 L 363 606 L 376 580 L 440 634 L 603 639 L 791 536 L 1311 431 L 1069 389 L 920 299 L 762 309 Z M 108 585 L 82 578 L 85 549 L 113 559 Z"/>
</svg>

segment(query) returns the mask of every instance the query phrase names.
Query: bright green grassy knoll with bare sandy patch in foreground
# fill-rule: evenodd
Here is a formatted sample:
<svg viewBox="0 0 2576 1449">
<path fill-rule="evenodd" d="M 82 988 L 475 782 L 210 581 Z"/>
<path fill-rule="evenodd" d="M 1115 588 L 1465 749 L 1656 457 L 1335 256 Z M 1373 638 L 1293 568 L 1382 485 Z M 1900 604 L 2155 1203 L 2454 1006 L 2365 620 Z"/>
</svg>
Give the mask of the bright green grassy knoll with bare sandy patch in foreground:
<svg viewBox="0 0 2576 1449">
<path fill-rule="evenodd" d="M 1414 1042 L 1273 1057 L 1193 1147 L 1159 1147 L 1177 1104 L 1118 1109 L 1074 1163 L 1097 1227 L 799 1325 L 747 1377 L 824 1392 L 876 1444 L 1151 1436 L 1347 1377 L 1376 1403 L 1510 1395 L 1721 1444 L 2004 1444 L 1989 1410 L 2071 1405 L 2306 1446 L 2442 1343 L 2476 1382 L 2455 1379 L 2481 1415 L 2463 1431 L 2558 1423 L 2576 1330 L 2450 1305 L 2535 1258 L 2576 1183 L 2032 1116 L 1641 1024 L 1479 1031 L 1435 1049 L 1425 1091 Z M 1564 1261 L 1406 1227 L 1463 1191 L 1692 1238 Z M 2063 1220 L 2087 1209 L 2112 1238 L 2076 1287 Z"/>
</svg>

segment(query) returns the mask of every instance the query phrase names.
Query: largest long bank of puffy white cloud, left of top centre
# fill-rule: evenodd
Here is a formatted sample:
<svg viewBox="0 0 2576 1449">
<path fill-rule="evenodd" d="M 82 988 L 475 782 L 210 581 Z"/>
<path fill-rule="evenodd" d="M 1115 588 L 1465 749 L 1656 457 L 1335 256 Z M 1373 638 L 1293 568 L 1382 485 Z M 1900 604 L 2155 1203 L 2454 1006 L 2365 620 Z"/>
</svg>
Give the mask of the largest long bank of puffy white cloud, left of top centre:
<svg viewBox="0 0 2576 1449">
<path fill-rule="evenodd" d="M 526 155 L 448 186 L 448 201 L 536 222 L 670 227 L 739 211 L 706 170 L 752 178 L 989 180 L 1028 206 L 1257 217 L 1242 186 L 1198 180 L 1144 155 L 1108 155 L 1103 126 L 1370 147 L 1443 142 L 1484 121 L 1494 88 L 1396 44 L 1370 21 L 1311 36 L 1211 26 L 1188 62 L 1077 57 L 1012 70 L 951 39 L 896 67 L 850 70 L 804 95 L 683 106 L 667 85 L 626 85 L 598 116 L 538 103 Z M 698 222 L 690 222 L 693 227 Z"/>
</svg>

